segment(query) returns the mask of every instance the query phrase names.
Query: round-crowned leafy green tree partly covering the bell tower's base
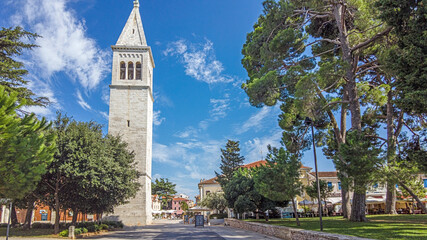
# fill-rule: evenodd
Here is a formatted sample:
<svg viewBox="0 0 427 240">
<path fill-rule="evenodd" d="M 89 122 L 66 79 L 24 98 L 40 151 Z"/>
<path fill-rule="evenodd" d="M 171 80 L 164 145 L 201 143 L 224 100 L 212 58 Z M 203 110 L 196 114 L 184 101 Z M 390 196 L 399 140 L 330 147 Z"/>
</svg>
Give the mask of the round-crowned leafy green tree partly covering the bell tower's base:
<svg viewBox="0 0 427 240">
<path fill-rule="evenodd" d="M 94 122 L 77 122 L 58 113 L 53 129 L 57 149 L 42 180 L 47 191 L 43 201 L 56 212 L 55 232 L 61 209 L 72 209 L 75 216 L 79 211 L 111 212 L 135 196 L 140 186 L 134 154 L 120 138 L 104 138 L 101 129 Z"/>
</svg>

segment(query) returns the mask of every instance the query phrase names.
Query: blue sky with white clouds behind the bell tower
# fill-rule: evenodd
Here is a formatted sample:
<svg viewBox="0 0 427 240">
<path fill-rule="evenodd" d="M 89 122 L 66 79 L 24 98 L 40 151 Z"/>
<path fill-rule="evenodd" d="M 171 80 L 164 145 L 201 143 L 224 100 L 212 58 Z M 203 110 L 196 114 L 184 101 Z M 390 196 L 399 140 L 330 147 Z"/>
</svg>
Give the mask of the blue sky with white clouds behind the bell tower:
<svg viewBox="0 0 427 240">
<path fill-rule="evenodd" d="M 220 148 L 239 140 L 246 163 L 280 145 L 278 106 L 255 108 L 240 88 L 246 34 L 261 0 L 142 0 L 141 16 L 154 69 L 153 178 L 169 178 L 179 193 L 218 170 Z M 30 87 L 53 102 L 32 108 L 52 119 L 57 110 L 108 126 L 110 46 L 133 8 L 132 0 L 0 0 L 0 26 L 21 25 L 42 36 L 20 59 Z M 319 149 L 320 150 L 320 149 Z M 319 170 L 333 170 L 318 151 Z M 314 167 L 313 155 L 303 164 Z"/>
</svg>

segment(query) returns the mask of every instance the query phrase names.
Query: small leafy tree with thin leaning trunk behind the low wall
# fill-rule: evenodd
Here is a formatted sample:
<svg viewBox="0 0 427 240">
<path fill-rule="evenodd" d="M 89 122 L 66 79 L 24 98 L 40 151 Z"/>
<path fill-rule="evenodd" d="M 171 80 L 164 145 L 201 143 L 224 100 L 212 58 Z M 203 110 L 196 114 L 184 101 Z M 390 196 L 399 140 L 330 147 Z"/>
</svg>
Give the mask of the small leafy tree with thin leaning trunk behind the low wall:
<svg viewBox="0 0 427 240">
<path fill-rule="evenodd" d="M 297 225 L 300 225 L 295 197 L 301 194 L 300 182 L 301 161 L 296 154 L 291 154 L 284 148 L 268 146 L 267 164 L 259 167 L 255 175 L 255 187 L 265 197 L 285 202 L 291 199 Z"/>
</svg>

